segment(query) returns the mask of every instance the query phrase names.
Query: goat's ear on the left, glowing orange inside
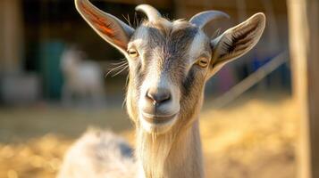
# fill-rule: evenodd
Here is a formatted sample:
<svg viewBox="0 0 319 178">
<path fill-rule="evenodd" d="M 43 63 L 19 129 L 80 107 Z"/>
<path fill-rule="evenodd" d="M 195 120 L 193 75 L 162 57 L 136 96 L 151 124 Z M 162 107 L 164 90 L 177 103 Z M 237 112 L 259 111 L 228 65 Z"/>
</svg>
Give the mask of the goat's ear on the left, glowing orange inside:
<svg viewBox="0 0 319 178">
<path fill-rule="evenodd" d="M 126 53 L 130 36 L 134 33 L 134 28 L 117 19 L 109 13 L 102 12 L 88 0 L 75 0 L 75 6 L 80 15 L 88 22 L 99 36 L 108 43 Z"/>
</svg>

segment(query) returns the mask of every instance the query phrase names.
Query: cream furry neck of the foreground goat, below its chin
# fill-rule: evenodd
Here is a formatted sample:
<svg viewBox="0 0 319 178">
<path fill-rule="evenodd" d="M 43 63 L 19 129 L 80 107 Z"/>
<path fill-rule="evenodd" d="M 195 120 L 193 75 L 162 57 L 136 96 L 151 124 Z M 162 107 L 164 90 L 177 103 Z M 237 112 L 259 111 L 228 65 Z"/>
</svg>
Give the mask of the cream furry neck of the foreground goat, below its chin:
<svg viewBox="0 0 319 178">
<path fill-rule="evenodd" d="M 138 128 L 137 156 L 146 178 L 203 178 L 198 120 L 172 134 L 151 135 Z"/>
</svg>

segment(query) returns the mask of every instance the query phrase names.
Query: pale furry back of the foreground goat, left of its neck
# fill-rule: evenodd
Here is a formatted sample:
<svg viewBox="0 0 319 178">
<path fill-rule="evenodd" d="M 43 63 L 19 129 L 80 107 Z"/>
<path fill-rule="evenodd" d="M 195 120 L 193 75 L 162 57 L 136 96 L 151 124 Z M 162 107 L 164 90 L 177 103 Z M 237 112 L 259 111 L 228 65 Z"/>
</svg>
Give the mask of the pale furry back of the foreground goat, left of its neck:
<svg viewBox="0 0 319 178">
<path fill-rule="evenodd" d="M 134 177 L 132 150 L 121 137 L 108 131 L 88 131 L 64 156 L 58 178 Z"/>
</svg>

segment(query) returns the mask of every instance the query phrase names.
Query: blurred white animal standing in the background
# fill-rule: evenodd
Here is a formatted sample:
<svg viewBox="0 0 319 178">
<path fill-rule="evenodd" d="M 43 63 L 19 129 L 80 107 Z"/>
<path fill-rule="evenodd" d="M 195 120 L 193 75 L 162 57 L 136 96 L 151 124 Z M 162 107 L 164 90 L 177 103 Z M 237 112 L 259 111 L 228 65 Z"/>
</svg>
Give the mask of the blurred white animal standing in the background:
<svg viewBox="0 0 319 178">
<path fill-rule="evenodd" d="M 64 105 L 99 106 L 105 101 L 103 72 L 95 61 L 72 46 L 61 57 Z"/>
</svg>

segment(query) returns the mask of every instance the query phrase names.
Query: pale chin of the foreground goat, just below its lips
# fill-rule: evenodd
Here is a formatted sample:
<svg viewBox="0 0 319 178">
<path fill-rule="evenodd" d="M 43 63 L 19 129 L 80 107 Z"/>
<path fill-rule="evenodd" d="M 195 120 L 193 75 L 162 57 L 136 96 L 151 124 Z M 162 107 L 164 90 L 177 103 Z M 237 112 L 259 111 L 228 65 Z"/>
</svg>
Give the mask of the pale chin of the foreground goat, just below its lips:
<svg viewBox="0 0 319 178">
<path fill-rule="evenodd" d="M 165 134 L 171 130 L 173 125 L 175 125 L 178 120 L 178 114 L 160 123 L 152 122 L 151 118 L 143 116 L 140 116 L 139 119 L 143 130 L 148 134 Z"/>
</svg>

